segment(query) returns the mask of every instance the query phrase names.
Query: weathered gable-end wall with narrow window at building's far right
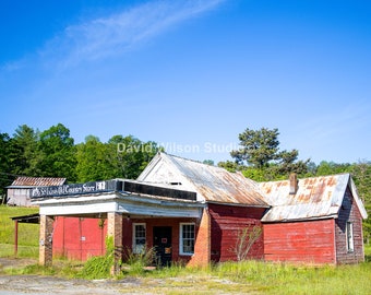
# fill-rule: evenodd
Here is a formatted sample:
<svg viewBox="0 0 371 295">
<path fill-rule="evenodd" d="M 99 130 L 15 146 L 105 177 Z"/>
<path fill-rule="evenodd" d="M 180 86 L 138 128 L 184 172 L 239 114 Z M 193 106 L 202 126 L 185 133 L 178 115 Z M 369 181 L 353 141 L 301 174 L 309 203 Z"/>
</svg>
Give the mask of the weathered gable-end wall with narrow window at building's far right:
<svg viewBox="0 0 371 295">
<path fill-rule="evenodd" d="M 352 223 L 354 251 L 347 249 L 346 223 Z M 344 196 L 342 209 L 335 223 L 336 262 L 357 263 L 364 261 L 362 217 L 349 188 Z"/>
</svg>

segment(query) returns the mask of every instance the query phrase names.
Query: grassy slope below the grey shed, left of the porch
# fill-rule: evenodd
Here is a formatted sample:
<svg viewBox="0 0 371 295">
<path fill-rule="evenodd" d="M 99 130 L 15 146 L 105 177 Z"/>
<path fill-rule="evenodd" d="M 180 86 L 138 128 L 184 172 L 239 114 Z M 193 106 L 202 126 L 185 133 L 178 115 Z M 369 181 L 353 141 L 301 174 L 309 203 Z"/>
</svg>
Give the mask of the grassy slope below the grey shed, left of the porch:
<svg viewBox="0 0 371 295">
<path fill-rule="evenodd" d="M 11 217 L 34 214 L 38 208 L 0 205 L 0 257 L 14 256 L 14 222 Z M 38 224 L 19 224 L 17 257 L 37 258 Z"/>
</svg>

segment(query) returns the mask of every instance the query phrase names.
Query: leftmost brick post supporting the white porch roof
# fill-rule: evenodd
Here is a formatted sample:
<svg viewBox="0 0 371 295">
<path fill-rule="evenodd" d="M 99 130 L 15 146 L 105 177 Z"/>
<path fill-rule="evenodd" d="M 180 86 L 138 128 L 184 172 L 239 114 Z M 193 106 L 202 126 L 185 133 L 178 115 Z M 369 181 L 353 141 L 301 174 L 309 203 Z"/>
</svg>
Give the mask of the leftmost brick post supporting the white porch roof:
<svg viewBox="0 0 371 295">
<path fill-rule="evenodd" d="M 40 215 L 39 235 L 39 264 L 49 267 L 52 264 L 52 217 Z"/>
</svg>

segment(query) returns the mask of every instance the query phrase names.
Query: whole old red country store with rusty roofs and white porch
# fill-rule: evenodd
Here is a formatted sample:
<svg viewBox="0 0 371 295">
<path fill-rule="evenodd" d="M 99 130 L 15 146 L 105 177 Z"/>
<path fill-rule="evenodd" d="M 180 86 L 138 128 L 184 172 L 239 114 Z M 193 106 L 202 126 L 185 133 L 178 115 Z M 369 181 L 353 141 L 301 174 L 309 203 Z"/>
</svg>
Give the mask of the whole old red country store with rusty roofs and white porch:
<svg viewBox="0 0 371 295">
<path fill-rule="evenodd" d="M 290 185 L 291 184 L 291 185 Z M 154 247 L 158 263 L 249 259 L 348 263 L 363 260 L 364 208 L 348 174 L 258 184 L 240 173 L 158 153 L 136 180 L 34 188 L 40 263 L 52 253 L 86 259 L 113 237 L 117 259 Z"/>
</svg>

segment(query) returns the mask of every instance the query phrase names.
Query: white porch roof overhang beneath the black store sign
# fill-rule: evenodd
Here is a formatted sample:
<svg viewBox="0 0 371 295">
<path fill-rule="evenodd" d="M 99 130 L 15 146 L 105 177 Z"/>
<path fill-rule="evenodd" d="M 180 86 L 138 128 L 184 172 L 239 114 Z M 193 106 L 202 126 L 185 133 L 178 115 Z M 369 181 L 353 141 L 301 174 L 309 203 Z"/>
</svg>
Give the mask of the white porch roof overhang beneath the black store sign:
<svg viewBox="0 0 371 295">
<path fill-rule="evenodd" d="M 108 212 L 131 217 L 201 217 L 204 203 L 127 192 L 101 192 L 33 201 L 40 215 L 101 215 Z"/>
</svg>

